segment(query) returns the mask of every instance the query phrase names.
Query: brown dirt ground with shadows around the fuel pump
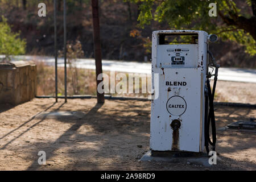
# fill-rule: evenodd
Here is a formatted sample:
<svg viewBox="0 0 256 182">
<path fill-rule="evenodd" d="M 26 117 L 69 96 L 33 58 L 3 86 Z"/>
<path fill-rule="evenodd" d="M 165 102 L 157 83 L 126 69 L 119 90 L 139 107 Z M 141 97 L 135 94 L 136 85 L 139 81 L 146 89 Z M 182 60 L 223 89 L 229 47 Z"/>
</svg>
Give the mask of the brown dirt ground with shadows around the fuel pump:
<svg viewBox="0 0 256 182">
<path fill-rule="evenodd" d="M 256 117 L 256 109 L 216 107 L 217 129 Z M 82 118 L 33 117 L 42 111 L 81 111 Z M 138 162 L 149 150 L 150 101 L 35 98 L 12 107 L 0 105 L 0 170 L 255 170 L 256 133 L 217 131 L 221 161 L 213 167 L 193 163 Z M 46 166 L 38 152 L 46 152 Z"/>
</svg>

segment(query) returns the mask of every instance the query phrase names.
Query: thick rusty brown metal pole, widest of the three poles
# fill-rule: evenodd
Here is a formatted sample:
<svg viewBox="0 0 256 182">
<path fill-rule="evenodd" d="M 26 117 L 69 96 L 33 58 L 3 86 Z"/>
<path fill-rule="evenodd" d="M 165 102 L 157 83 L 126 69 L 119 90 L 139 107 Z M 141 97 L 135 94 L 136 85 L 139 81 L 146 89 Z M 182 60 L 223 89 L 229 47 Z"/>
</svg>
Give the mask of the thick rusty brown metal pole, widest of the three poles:
<svg viewBox="0 0 256 182">
<path fill-rule="evenodd" d="M 93 16 L 93 39 L 94 39 L 94 57 L 96 65 L 96 82 L 97 88 L 101 80 L 97 77 L 102 73 L 101 63 L 101 38 L 100 38 L 100 19 L 98 16 L 98 0 L 92 0 L 92 16 Z M 97 102 L 104 103 L 104 93 L 98 93 L 97 90 Z"/>
</svg>

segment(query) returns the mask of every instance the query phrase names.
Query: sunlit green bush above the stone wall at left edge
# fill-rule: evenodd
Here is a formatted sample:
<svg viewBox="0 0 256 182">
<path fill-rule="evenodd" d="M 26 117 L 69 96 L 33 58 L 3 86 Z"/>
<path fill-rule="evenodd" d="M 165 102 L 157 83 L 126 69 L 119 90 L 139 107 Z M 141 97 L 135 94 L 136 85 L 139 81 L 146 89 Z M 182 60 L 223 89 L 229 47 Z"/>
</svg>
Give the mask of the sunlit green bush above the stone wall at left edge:
<svg viewBox="0 0 256 182">
<path fill-rule="evenodd" d="M 10 55 L 20 55 L 26 52 L 26 42 L 19 38 L 19 33 L 11 32 L 7 20 L 2 17 L 0 22 L 0 54 L 9 59 Z"/>
</svg>

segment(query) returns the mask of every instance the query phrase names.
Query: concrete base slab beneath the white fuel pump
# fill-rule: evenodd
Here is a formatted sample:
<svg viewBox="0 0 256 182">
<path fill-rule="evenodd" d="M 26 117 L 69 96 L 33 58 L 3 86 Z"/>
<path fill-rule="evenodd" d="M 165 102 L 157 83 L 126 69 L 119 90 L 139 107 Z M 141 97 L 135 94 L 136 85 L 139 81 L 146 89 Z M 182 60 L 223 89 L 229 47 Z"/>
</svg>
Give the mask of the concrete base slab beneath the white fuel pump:
<svg viewBox="0 0 256 182">
<path fill-rule="evenodd" d="M 218 160 L 218 159 L 217 159 Z M 189 152 L 155 152 L 147 151 L 140 161 L 162 161 L 171 163 L 196 164 L 211 167 L 209 158 L 206 153 L 189 153 Z"/>
</svg>

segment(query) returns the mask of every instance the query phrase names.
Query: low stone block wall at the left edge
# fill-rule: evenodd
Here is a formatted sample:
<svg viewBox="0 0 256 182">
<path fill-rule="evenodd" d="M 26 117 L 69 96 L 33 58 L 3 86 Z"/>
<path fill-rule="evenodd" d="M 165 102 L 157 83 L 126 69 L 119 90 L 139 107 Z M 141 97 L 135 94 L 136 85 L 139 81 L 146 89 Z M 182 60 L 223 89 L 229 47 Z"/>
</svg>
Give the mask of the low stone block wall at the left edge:
<svg viewBox="0 0 256 182">
<path fill-rule="evenodd" d="M 18 105 L 36 96 L 36 65 L 32 61 L 0 63 L 0 104 Z"/>
</svg>

